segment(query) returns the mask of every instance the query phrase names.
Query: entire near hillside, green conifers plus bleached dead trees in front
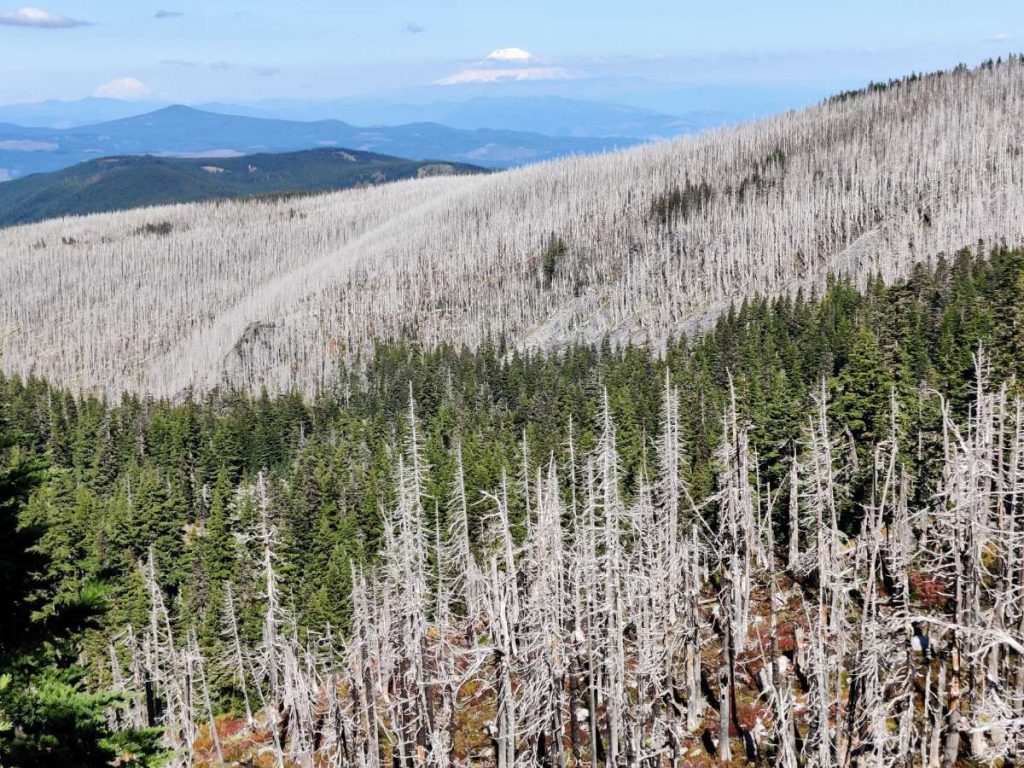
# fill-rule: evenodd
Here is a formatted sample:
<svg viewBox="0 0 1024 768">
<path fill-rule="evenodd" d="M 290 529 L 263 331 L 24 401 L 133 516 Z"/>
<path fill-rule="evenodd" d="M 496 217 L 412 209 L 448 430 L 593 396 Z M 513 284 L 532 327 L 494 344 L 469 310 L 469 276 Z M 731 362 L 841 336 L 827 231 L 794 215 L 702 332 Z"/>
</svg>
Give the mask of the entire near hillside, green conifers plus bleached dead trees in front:
<svg viewBox="0 0 1024 768">
<path fill-rule="evenodd" d="M 1012 764 L 1024 253 L 927 260 L 664 356 L 398 343 L 315 396 L 177 402 L 0 380 L 39 563 L 0 595 L 32 615 L 0 762 L 129 764 L 157 726 L 181 766 Z M 79 671 L 113 697 L 54 725 L 25 681 Z M 85 721 L 120 741 L 78 757 Z"/>
</svg>

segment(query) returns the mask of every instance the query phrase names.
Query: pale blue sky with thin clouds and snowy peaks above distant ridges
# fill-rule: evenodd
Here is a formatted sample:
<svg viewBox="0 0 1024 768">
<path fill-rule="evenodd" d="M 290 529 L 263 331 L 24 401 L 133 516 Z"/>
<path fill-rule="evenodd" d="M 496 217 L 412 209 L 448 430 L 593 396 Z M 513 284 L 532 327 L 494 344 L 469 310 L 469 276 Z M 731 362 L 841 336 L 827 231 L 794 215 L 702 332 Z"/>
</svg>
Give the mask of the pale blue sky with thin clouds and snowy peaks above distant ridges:
<svg viewBox="0 0 1024 768">
<path fill-rule="evenodd" d="M 0 0 L 0 103 L 631 79 L 827 91 L 1024 50 L 1021 0 L 30 1 Z"/>
</svg>

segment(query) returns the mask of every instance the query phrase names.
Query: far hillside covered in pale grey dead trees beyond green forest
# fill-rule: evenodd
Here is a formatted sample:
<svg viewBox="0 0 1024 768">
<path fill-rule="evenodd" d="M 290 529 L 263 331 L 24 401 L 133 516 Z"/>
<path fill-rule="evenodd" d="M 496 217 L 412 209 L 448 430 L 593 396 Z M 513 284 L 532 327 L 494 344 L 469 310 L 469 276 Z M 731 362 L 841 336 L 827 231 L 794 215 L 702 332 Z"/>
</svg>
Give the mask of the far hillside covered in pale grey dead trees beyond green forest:
<svg viewBox="0 0 1024 768">
<path fill-rule="evenodd" d="M 599 158 L 9 229 L 3 366 L 178 394 L 312 389 L 408 335 L 656 346 L 831 270 L 1020 242 L 1022 109 L 1012 59 Z"/>
</svg>

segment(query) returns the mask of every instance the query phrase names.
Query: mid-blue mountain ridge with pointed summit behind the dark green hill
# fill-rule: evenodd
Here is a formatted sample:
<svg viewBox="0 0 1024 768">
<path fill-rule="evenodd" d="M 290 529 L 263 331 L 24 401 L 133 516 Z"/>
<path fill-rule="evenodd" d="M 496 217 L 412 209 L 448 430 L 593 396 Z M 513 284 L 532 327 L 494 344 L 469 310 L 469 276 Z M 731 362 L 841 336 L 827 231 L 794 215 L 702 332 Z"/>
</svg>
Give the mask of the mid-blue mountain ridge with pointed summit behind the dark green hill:
<svg viewBox="0 0 1024 768">
<path fill-rule="evenodd" d="M 0 125 L 0 179 L 116 155 L 237 157 L 317 146 L 505 168 L 566 155 L 610 152 L 643 140 L 465 130 L 436 123 L 359 128 L 337 120 L 297 122 L 167 106 L 71 128 Z"/>
</svg>

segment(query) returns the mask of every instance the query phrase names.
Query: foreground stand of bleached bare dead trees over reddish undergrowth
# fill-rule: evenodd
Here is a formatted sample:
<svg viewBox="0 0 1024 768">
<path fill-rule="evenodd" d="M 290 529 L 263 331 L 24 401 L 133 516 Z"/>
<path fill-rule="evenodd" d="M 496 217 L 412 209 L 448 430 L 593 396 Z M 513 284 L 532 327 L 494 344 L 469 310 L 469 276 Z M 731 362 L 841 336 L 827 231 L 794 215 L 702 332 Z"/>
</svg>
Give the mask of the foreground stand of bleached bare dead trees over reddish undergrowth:
<svg viewBox="0 0 1024 768">
<path fill-rule="evenodd" d="M 226 657 L 204 658 L 176 632 L 151 558 L 151 618 L 112 648 L 114 680 L 182 766 L 255 752 L 260 765 L 359 768 L 1011 765 L 1024 746 L 1024 403 L 988 381 L 979 353 L 969 416 L 944 410 L 941 479 L 920 506 L 892 398 L 847 530 L 852 446 L 824 389 L 795 436 L 791 487 L 759 478 L 733 392 L 717 489 L 691 498 L 667 380 L 636 494 L 621 493 L 605 397 L 593 450 L 527 463 L 480 500 L 466 499 L 455 445 L 447 514 L 427 493 L 411 398 L 383 553 L 353 572 L 344 637 L 300 632 L 288 609 L 260 476 L 261 640 L 240 640 L 228 587 Z M 482 541 L 468 504 L 490 510 Z M 939 599 L 916 594 L 923 572 Z M 246 702 L 242 756 L 210 705 L 218 664 Z"/>
</svg>

